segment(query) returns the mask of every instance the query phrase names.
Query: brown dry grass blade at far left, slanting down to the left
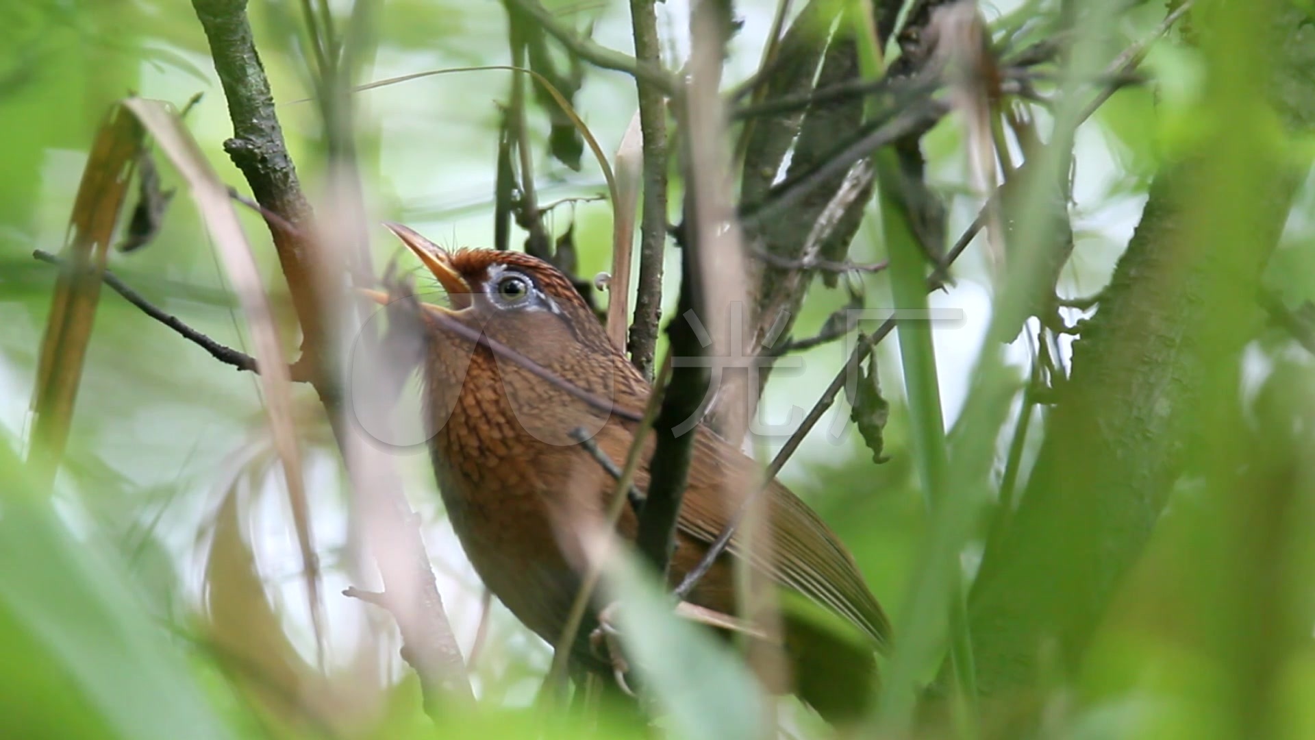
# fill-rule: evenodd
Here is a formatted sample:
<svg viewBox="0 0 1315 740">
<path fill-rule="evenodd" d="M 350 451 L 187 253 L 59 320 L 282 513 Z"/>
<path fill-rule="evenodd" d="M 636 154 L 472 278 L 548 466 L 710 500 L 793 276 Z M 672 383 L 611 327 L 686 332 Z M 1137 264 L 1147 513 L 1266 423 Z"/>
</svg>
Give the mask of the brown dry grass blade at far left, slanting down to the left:
<svg viewBox="0 0 1315 740">
<path fill-rule="evenodd" d="M 100 299 L 101 273 L 141 140 L 142 129 L 133 116 L 117 105 L 112 108 L 96 134 L 78 186 L 64 246 L 67 266 L 55 283 L 32 399 L 34 420 L 28 462 L 38 463 L 34 482 L 46 491 L 54 483 L 68 442 L 74 402 Z"/>
</svg>

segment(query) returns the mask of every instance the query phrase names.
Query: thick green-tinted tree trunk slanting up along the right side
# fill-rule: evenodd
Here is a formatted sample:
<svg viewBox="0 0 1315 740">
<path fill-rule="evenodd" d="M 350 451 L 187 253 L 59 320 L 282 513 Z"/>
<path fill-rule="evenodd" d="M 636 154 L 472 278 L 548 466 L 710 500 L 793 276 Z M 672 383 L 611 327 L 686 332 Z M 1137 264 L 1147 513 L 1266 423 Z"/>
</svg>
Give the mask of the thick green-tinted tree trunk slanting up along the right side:
<svg viewBox="0 0 1315 740">
<path fill-rule="evenodd" d="M 1253 111 L 1265 107 L 1258 91 L 1268 91 L 1287 126 L 1308 133 L 1315 78 L 1304 72 L 1311 55 L 1301 9 L 1226 7 L 1256 13 L 1257 33 L 1245 47 L 1216 45 L 1203 55 L 1207 90 L 1215 105 L 1233 95 L 1230 116 L 1237 97 L 1257 100 L 1156 176 L 1101 308 L 1074 344 L 1072 377 L 1057 391 L 1018 511 L 973 586 L 984 693 L 1034 681 L 1045 645 L 1059 647 L 1065 669 L 1081 660 L 1198 435 L 1236 403 L 1260 274 L 1289 211 L 1291 169 L 1301 170 L 1257 154 L 1255 142 L 1270 134 L 1257 133 L 1268 122 Z M 1212 32 L 1235 43 L 1241 37 Z M 1266 78 L 1266 68 L 1277 74 Z"/>
</svg>

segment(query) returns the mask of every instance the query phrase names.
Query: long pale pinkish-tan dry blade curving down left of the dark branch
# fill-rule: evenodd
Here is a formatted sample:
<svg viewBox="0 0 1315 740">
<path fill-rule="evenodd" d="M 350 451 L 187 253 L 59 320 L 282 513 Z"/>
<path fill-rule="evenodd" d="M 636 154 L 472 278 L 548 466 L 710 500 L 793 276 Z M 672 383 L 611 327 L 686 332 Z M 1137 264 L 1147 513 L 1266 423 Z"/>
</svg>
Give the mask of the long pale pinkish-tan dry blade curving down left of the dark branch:
<svg viewBox="0 0 1315 740">
<path fill-rule="evenodd" d="M 288 487 L 288 502 L 301 550 L 306 599 L 314 625 L 316 644 L 322 649 L 323 615 L 320 596 L 320 565 L 310 529 L 310 507 L 306 502 L 301 452 L 292 415 L 291 377 L 288 362 L 283 356 L 283 344 L 270 311 L 270 302 L 260 283 L 255 255 L 251 253 L 251 245 L 247 242 L 233 209 L 227 186 L 210 167 L 181 119 L 159 100 L 129 97 L 124 101 L 124 107 L 132 111 L 142 126 L 155 137 L 160 151 L 168 157 L 174 167 L 187 180 L 192 199 L 214 238 L 229 282 L 233 284 L 238 303 L 247 317 L 256 362 L 260 367 L 260 387 L 264 395 L 270 433 Z"/>
</svg>

